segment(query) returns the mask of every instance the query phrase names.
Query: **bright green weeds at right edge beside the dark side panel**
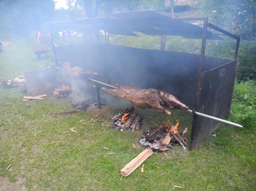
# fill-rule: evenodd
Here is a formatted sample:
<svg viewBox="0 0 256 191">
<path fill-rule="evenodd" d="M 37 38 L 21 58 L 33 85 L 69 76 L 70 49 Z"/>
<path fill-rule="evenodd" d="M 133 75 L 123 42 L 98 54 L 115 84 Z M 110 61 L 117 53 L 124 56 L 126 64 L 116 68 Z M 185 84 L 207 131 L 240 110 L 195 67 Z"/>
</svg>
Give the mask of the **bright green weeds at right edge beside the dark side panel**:
<svg viewBox="0 0 256 191">
<path fill-rule="evenodd" d="M 246 131 L 256 133 L 256 81 L 236 83 L 229 120 L 242 124 Z"/>
</svg>

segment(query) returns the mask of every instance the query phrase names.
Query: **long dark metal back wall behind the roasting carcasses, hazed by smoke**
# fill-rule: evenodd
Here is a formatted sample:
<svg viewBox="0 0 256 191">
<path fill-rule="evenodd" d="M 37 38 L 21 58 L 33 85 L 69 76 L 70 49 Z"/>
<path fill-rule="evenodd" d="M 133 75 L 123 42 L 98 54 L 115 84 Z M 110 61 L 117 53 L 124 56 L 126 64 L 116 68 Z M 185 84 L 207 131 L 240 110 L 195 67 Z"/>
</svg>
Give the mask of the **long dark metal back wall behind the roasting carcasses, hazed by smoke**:
<svg viewBox="0 0 256 191">
<path fill-rule="evenodd" d="M 98 72 L 111 84 L 162 89 L 195 106 L 199 55 L 109 44 L 72 44 L 55 48 L 57 61 Z"/>
</svg>

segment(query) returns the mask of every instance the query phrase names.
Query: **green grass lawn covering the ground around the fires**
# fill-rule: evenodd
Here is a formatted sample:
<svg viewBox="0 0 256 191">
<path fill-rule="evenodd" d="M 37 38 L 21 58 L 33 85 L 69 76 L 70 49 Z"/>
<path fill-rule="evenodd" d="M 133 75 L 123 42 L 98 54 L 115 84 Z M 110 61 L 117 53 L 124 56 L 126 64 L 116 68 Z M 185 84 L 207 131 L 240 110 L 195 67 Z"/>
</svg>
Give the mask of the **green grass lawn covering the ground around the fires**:
<svg viewBox="0 0 256 191">
<path fill-rule="evenodd" d="M 0 80 L 45 69 L 46 63 L 47 60 L 37 60 L 27 41 L 16 40 L 0 53 Z M 154 153 L 144 162 L 144 173 L 139 167 L 124 178 L 120 170 L 143 151 L 138 140 L 143 130 L 152 127 L 147 118 L 142 130 L 121 132 L 106 126 L 114 111 L 94 118 L 95 122 L 90 122 L 93 115 L 82 110 L 50 118 L 48 114 L 74 110 L 72 98 L 47 97 L 23 102 L 23 96 L 19 88 L 0 86 L 0 176 L 10 181 L 25 178 L 28 190 L 165 191 L 181 189 L 174 187 L 180 186 L 188 191 L 253 191 L 256 188 L 256 136 L 246 129 L 222 124 L 214 132 L 216 137 L 208 138 L 194 151 L 177 146 L 172 151 Z M 152 110 L 140 112 L 152 117 L 156 124 L 179 119 L 180 129 L 191 129 L 192 116 L 186 112 L 173 110 L 171 116 Z M 70 131 L 73 127 L 79 133 Z M 107 155 L 110 152 L 115 154 Z M 5 171 L 9 164 L 10 169 Z"/>
</svg>

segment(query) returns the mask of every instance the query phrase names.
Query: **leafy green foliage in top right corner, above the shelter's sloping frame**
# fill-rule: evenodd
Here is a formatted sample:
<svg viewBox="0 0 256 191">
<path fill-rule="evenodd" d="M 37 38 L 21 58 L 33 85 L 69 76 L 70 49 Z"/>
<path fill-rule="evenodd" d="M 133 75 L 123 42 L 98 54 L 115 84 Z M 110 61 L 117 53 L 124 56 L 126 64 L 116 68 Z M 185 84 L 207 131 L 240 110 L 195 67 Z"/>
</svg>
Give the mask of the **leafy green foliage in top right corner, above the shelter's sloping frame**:
<svg viewBox="0 0 256 191">
<path fill-rule="evenodd" d="M 218 27 L 242 34 L 243 40 L 256 40 L 255 0 L 198 0 L 194 6 Z"/>
</svg>

